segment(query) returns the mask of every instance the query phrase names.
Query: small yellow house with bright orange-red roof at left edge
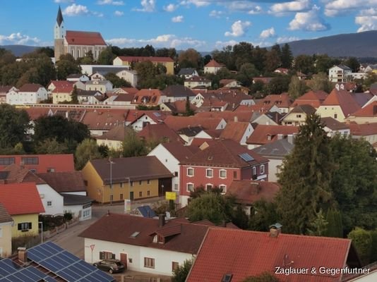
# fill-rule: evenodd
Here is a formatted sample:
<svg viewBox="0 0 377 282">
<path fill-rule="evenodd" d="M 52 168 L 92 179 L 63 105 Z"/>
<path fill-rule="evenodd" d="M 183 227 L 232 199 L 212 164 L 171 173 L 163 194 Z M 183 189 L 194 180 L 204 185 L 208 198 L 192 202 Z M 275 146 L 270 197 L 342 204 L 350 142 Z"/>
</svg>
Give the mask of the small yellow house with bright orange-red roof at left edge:
<svg viewBox="0 0 377 282">
<path fill-rule="evenodd" d="M 13 218 L 12 238 L 38 235 L 38 215 L 44 212 L 35 183 L 0 185 L 0 202 Z"/>
</svg>

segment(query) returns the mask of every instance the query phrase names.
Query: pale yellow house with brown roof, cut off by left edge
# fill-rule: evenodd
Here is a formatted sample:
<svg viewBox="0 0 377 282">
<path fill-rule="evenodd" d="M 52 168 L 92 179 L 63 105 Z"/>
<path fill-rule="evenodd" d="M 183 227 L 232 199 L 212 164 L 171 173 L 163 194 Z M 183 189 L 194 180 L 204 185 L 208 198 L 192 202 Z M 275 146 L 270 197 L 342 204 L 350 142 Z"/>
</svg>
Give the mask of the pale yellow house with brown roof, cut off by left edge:
<svg viewBox="0 0 377 282">
<path fill-rule="evenodd" d="M 13 219 L 0 203 L 0 257 L 8 257 L 12 254 L 12 225 Z"/>
</svg>

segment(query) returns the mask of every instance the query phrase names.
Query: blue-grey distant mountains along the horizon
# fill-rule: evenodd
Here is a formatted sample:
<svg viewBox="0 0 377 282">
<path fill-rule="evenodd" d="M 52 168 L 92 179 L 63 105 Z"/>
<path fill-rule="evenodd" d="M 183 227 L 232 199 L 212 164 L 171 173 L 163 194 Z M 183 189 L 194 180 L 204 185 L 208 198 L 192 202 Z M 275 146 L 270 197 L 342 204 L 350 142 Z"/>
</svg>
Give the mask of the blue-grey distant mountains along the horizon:
<svg viewBox="0 0 377 282">
<path fill-rule="evenodd" d="M 294 56 L 300 54 L 328 54 L 331 57 L 377 58 L 377 30 L 298 40 L 288 42 L 288 44 Z M 12 51 L 15 56 L 22 56 L 25 53 L 34 51 L 38 47 L 4 45 L 0 46 L 0 48 Z M 202 56 L 210 53 L 201 52 Z"/>
</svg>

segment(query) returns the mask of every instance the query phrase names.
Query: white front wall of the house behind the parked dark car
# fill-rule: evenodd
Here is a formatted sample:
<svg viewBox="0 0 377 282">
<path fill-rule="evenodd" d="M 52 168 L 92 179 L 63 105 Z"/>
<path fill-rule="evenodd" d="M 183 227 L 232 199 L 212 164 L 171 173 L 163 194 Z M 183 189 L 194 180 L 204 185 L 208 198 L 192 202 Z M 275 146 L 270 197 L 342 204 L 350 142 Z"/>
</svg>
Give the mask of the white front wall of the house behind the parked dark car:
<svg viewBox="0 0 377 282">
<path fill-rule="evenodd" d="M 158 243 L 156 243 L 158 244 Z M 93 251 L 90 245 L 94 245 Z M 186 259 L 193 256 L 184 252 L 173 252 L 160 250 L 152 247 L 139 247 L 121 243 L 106 242 L 103 240 L 84 239 L 85 262 L 90 264 L 100 260 L 100 252 L 107 251 L 115 254 L 116 259 L 120 259 L 120 254 L 127 254 L 127 269 L 131 271 L 143 271 L 150 274 L 162 274 L 172 276 L 172 262 L 183 264 Z M 155 259 L 155 268 L 144 267 L 144 257 Z M 132 262 L 130 262 L 130 260 Z"/>
</svg>

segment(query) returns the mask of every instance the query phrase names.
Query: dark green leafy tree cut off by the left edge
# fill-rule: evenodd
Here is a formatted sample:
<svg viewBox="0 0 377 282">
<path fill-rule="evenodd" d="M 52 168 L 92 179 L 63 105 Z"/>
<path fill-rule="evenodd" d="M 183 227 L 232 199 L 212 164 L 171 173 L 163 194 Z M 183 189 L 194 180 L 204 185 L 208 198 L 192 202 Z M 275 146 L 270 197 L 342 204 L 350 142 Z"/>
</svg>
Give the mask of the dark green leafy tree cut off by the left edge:
<svg viewBox="0 0 377 282">
<path fill-rule="evenodd" d="M 9 104 L 0 104 L 0 147 L 13 148 L 27 136 L 30 118 L 25 110 Z"/>
</svg>

